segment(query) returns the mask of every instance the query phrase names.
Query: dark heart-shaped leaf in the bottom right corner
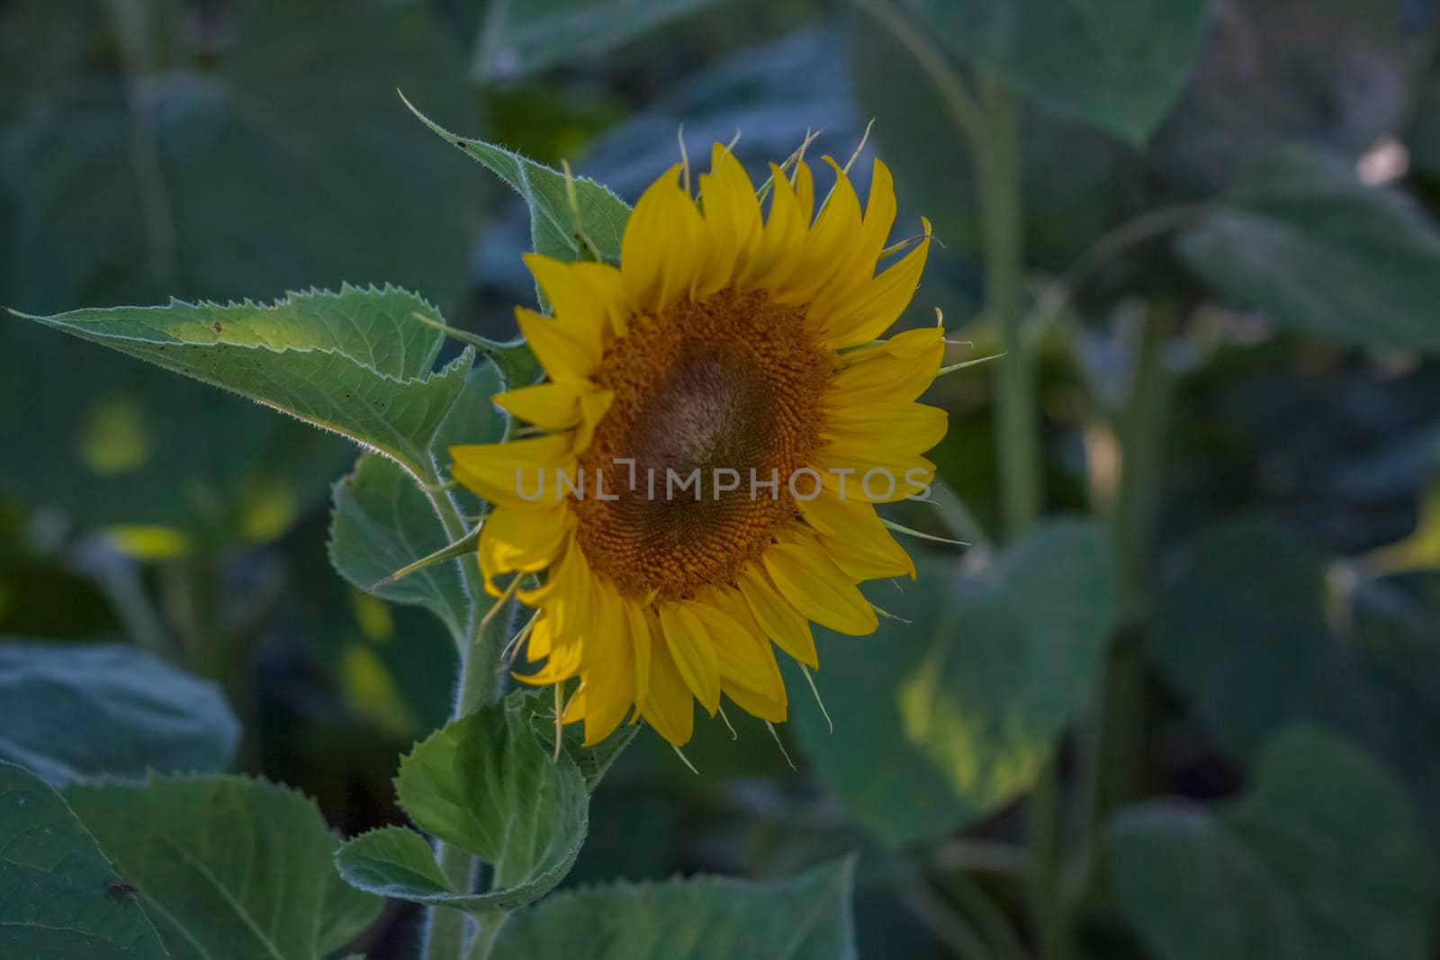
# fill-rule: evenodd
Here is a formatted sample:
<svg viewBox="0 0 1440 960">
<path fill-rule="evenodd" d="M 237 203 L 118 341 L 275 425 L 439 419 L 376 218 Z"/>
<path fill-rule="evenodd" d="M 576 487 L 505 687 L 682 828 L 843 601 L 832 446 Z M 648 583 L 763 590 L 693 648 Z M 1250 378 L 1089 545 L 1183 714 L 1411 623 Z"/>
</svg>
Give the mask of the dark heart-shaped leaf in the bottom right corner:
<svg viewBox="0 0 1440 960">
<path fill-rule="evenodd" d="M 1428 864 L 1404 792 L 1346 741 L 1295 727 L 1250 792 L 1112 822 L 1116 885 L 1158 960 L 1423 960 Z"/>
</svg>

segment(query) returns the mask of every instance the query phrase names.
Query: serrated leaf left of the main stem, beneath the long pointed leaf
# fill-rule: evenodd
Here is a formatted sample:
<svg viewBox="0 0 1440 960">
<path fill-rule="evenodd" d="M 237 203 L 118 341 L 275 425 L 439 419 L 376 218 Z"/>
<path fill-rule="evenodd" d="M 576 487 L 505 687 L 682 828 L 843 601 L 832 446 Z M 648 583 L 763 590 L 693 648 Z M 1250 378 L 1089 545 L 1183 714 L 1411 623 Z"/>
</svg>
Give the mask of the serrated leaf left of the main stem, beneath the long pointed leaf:
<svg viewBox="0 0 1440 960">
<path fill-rule="evenodd" d="M 395 462 L 366 453 L 348 476 L 336 482 L 333 497 L 330 563 L 336 571 L 361 590 L 393 603 L 423 606 L 459 642 L 469 602 L 456 563 L 474 560 L 433 563 L 377 586 L 448 543 L 433 505 L 415 485 L 415 478 Z"/>
</svg>

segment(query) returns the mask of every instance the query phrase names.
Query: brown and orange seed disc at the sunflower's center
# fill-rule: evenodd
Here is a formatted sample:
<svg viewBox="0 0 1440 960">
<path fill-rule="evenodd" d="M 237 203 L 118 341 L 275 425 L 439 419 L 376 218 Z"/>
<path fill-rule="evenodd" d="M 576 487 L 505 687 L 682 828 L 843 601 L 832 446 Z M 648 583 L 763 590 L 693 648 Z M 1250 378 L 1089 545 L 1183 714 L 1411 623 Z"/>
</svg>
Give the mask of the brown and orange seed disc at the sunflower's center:
<svg viewBox="0 0 1440 960">
<path fill-rule="evenodd" d="M 595 374 L 615 400 L 579 463 L 603 471 L 606 499 L 575 504 L 590 566 L 631 597 L 734 580 L 795 517 L 829 373 L 805 308 L 760 292 L 636 317 Z"/>
</svg>

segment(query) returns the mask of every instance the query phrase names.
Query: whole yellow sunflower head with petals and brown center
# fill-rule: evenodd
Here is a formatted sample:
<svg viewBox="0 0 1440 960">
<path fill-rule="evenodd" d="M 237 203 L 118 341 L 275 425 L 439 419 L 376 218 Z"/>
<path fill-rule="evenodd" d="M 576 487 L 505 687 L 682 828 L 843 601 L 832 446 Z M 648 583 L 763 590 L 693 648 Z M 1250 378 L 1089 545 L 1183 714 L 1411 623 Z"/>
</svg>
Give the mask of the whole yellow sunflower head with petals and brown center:
<svg viewBox="0 0 1440 960">
<path fill-rule="evenodd" d="M 683 164 L 645 190 L 619 266 L 526 256 L 553 315 L 517 318 L 547 377 L 494 400 L 531 429 L 451 448 L 452 474 L 492 504 L 487 590 L 537 609 L 526 656 L 544 664 L 517 676 L 579 678 L 562 718 L 585 721 L 586 744 L 629 715 L 678 747 L 696 701 L 785 720 L 773 646 L 818 668 L 812 622 L 871 633 L 857 584 L 914 577 L 873 504 L 933 476 L 922 453 L 946 415 L 914 399 L 945 347 L 939 327 L 878 337 L 919 285 L 930 225 L 877 273 L 896 253 L 890 173 L 874 163 L 861 212 L 825 161 L 814 220 L 802 158 L 770 164 L 762 216 L 717 144 L 698 201 Z"/>
</svg>

